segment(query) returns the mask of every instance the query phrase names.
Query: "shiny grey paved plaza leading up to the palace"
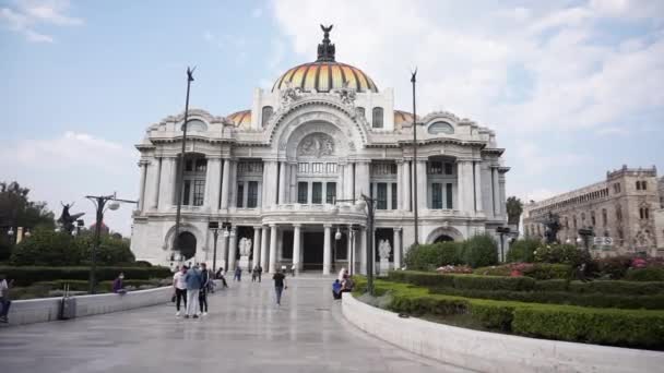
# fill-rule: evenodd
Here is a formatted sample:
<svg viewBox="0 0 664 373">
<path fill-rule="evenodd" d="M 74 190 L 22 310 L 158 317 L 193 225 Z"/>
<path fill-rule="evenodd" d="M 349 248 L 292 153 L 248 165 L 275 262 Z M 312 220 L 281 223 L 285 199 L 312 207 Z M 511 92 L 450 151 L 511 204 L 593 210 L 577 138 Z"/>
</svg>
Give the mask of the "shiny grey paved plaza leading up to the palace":
<svg viewBox="0 0 664 373">
<path fill-rule="evenodd" d="M 0 329 L 1 372 L 466 372 L 347 325 L 331 279 L 230 282 L 200 320 L 164 304 Z"/>
</svg>

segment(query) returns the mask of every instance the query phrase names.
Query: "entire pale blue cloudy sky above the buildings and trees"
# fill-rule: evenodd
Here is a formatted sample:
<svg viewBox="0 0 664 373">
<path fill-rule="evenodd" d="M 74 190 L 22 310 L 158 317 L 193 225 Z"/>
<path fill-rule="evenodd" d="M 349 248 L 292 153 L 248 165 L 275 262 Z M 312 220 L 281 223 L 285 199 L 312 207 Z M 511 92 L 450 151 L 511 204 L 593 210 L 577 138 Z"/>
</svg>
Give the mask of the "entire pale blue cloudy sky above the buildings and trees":
<svg viewBox="0 0 664 373">
<path fill-rule="evenodd" d="M 500 5 L 497 5 L 500 3 Z M 147 125 L 191 105 L 225 116 L 316 59 L 339 61 L 410 109 L 497 131 L 508 194 L 540 200 L 609 169 L 664 169 L 664 1 L 0 0 L 0 180 L 35 200 L 137 198 Z M 128 233 L 130 206 L 107 215 Z"/>
</svg>

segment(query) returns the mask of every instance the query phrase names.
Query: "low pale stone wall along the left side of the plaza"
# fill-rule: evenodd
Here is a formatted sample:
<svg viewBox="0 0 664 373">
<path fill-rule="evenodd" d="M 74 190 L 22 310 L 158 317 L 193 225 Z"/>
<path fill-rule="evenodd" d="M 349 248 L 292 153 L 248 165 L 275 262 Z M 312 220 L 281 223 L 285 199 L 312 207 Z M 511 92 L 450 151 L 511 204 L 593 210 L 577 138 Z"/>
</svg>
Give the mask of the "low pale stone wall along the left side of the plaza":
<svg viewBox="0 0 664 373">
<path fill-rule="evenodd" d="M 126 294 L 104 293 L 76 296 L 75 317 L 126 311 L 170 301 L 173 287 L 130 291 Z M 58 320 L 62 298 L 40 298 L 12 301 L 7 325 L 44 323 Z"/>
</svg>

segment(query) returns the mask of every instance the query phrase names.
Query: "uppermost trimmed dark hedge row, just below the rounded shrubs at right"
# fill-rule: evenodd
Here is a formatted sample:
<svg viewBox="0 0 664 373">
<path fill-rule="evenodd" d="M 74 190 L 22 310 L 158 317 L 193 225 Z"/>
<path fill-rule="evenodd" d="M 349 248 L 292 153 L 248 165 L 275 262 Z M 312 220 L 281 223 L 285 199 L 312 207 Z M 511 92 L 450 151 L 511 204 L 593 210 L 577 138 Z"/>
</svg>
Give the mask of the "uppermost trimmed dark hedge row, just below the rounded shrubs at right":
<svg viewBox="0 0 664 373">
<path fill-rule="evenodd" d="M 535 280 L 530 277 L 437 274 L 429 272 L 392 270 L 388 278 L 428 288 L 456 288 L 478 290 L 533 290 Z"/>
</svg>

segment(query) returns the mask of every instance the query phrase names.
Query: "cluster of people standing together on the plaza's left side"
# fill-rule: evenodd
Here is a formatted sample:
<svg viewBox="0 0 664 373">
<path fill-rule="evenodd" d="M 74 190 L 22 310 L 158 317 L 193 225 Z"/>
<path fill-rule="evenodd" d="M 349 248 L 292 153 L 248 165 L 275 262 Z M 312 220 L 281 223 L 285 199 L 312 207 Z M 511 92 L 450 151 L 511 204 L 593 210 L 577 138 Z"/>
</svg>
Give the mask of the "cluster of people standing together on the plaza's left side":
<svg viewBox="0 0 664 373">
<path fill-rule="evenodd" d="M 212 272 L 205 263 L 188 267 L 182 265 L 173 276 L 173 301 L 176 306 L 176 317 L 180 316 L 180 304 L 185 304 L 185 318 L 198 318 L 208 315 L 208 293 L 214 289 Z"/>
</svg>

